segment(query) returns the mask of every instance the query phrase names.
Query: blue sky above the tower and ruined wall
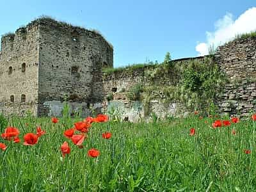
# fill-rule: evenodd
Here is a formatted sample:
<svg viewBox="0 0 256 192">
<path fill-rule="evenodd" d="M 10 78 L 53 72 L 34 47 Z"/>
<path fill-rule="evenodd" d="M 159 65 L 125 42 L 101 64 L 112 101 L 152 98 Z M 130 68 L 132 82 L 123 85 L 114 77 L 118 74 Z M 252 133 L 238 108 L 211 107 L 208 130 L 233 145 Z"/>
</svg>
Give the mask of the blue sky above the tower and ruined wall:
<svg viewBox="0 0 256 192">
<path fill-rule="evenodd" d="M 162 62 L 167 51 L 172 59 L 203 55 L 209 44 L 227 41 L 227 36 L 241 29 L 256 30 L 256 8 L 252 9 L 255 0 L 0 0 L 0 3 L 0 35 L 13 32 L 40 15 L 49 15 L 99 30 L 114 46 L 114 67 L 146 60 Z"/>
</svg>

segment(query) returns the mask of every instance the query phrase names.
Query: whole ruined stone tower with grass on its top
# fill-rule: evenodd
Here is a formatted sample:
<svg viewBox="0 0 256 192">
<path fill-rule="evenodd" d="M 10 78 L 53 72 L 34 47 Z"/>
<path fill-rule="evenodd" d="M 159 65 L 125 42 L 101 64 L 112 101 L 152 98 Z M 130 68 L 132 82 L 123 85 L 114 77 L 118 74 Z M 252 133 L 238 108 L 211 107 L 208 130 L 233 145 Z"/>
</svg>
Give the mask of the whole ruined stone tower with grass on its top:
<svg viewBox="0 0 256 192">
<path fill-rule="evenodd" d="M 97 31 L 37 19 L 1 38 L 0 110 L 4 115 L 60 116 L 99 106 L 102 67 L 113 67 L 113 47 Z"/>
</svg>

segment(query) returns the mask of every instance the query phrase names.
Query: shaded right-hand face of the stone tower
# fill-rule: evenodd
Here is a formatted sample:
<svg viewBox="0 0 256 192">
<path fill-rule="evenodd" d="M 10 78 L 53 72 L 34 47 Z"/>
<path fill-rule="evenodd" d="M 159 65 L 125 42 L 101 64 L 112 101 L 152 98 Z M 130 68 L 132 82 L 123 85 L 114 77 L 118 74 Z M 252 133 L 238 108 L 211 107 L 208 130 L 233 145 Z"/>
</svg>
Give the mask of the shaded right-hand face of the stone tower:
<svg viewBox="0 0 256 192">
<path fill-rule="evenodd" d="M 96 79 L 102 65 L 113 67 L 113 49 L 101 35 L 83 28 L 40 20 L 39 93 L 40 114 L 47 115 L 49 102 L 79 102 L 86 111 L 102 100 Z"/>
</svg>

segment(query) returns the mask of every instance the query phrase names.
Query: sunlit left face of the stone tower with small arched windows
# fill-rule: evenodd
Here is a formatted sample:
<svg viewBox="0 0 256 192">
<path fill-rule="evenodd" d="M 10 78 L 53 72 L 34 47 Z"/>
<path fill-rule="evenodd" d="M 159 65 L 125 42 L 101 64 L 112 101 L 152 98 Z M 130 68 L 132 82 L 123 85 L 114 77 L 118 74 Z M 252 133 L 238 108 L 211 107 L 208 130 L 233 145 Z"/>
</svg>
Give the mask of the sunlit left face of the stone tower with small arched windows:
<svg viewBox="0 0 256 192">
<path fill-rule="evenodd" d="M 0 102 L 1 106 L 4 104 L 6 107 L 0 107 L 0 110 L 4 113 L 20 115 L 22 108 L 29 108 L 31 112 L 37 113 L 35 104 L 38 99 L 38 58 L 38 26 L 28 25 L 26 28 L 17 29 L 15 34 L 2 36 Z"/>
</svg>

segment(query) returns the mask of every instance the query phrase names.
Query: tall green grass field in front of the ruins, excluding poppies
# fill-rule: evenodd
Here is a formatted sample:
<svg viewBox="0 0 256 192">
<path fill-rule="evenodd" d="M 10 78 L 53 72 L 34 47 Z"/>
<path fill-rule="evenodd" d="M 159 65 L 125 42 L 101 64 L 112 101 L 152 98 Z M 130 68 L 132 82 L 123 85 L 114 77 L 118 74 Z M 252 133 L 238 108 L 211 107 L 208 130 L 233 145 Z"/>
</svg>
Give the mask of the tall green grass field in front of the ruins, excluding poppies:
<svg viewBox="0 0 256 192">
<path fill-rule="evenodd" d="M 216 119 L 198 116 L 148 124 L 93 123 L 83 148 L 63 136 L 78 120 L 8 119 L 21 141 L 0 138 L 7 145 L 0 150 L 0 191 L 256 191 L 252 120 L 216 129 Z M 0 125 L 3 133 L 3 118 Z M 46 134 L 36 145 L 23 145 L 24 134 L 35 133 L 38 125 Z M 102 138 L 106 131 L 112 133 L 109 140 Z M 65 158 L 64 141 L 71 147 Z M 90 148 L 100 156 L 88 157 Z"/>
</svg>

